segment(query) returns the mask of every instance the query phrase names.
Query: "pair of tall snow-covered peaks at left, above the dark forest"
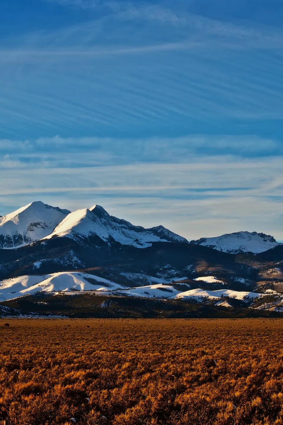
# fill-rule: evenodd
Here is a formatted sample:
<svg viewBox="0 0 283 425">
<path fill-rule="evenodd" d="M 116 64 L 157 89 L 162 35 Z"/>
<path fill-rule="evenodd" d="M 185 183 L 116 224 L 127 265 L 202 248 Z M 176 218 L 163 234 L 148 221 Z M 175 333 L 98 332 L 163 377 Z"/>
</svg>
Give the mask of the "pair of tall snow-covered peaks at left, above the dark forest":
<svg viewBox="0 0 283 425">
<path fill-rule="evenodd" d="M 163 226 L 145 229 L 110 215 L 100 205 L 70 212 L 41 201 L 0 217 L 0 249 L 18 248 L 40 239 L 67 237 L 79 244 L 132 245 L 138 248 L 151 242 L 183 242 L 187 239 Z"/>
</svg>

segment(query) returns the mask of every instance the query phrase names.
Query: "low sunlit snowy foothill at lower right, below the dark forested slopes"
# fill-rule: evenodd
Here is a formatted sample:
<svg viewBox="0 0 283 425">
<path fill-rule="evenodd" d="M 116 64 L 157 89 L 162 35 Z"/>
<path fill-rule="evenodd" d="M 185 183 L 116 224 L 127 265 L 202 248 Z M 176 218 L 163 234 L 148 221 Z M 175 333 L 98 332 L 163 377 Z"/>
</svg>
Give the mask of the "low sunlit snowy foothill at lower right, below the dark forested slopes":
<svg viewBox="0 0 283 425">
<path fill-rule="evenodd" d="M 174 298 L 194 298 L 196 301 L 201 302 L 204 297 L 215 299 L 223 297 L 236 298 L 237 300 L 245 300 L 247 298 L 261 297 L 262 294 L 248 291 L 232 291 L 231 289 L 218 289 L 217 291 L 207 291 L 205 289 L 197 288 L 190 289 L 189 291 L 182 292 Z"/>
</svg>

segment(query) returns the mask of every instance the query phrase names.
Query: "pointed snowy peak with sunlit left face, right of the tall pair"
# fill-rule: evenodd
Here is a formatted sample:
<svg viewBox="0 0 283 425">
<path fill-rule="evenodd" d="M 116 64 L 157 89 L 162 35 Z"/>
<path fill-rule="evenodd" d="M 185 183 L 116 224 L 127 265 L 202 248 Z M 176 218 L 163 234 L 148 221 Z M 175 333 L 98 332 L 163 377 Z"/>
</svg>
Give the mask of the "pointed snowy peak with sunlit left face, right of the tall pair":
<svg viewBox="0 0 283 425">
<path fill-rule="evenodd" d="M 134 226 L 129 221 L 109 215 L 104 208 L 94 205 L 90 209 L 71 212 L 66 218 L 46 236 L 46 239 L 65 236 L 82 242 L 98 237 L 110 244 L 113 241 L 123 245 L 138 248 L 150 246 L 151 242 L 188 242 L 182 236 L 176 235 L 162 226 L 145 229 Z"/>
</svg>

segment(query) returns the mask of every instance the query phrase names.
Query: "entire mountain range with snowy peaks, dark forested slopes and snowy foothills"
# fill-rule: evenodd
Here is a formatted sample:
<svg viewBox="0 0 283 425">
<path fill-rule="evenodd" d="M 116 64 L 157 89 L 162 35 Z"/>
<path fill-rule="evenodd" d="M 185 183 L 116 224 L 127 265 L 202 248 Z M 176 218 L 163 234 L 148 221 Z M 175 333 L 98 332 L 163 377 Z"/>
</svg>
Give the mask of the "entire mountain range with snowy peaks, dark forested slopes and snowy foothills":
<svg viewBox="0 0 283 425">
<path fill-rule="evenodd" d="M 99 205 L 70 212 L 40 201 L 0 217 L 4 303 L 63 291 L 225 308 L 260 304 L 281 312 L 281 290 L 283 245 L 264 233 L 189 242 L 163 226 L 135 226 Z M 263 295 L 270 302 L 259 302 Z"/>
</svg>

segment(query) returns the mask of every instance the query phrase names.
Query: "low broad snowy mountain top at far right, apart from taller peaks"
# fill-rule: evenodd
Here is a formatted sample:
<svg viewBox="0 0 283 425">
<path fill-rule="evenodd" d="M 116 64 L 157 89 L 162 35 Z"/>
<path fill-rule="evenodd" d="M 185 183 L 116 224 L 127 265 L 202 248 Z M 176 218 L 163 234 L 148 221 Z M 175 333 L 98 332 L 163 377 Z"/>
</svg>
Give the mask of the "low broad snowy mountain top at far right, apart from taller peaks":
<svg viewBox="0 0 283 425">
<path fill-rule="evenodd" d="M 191 241 L 191 244 L 208 246 L 230 254 L 241 252 L 258 254 L 280 245 L 273 236 L 257 232 L 227 233 L 215 238 L 201 238 L 197 241 Z"/>
</svg>

